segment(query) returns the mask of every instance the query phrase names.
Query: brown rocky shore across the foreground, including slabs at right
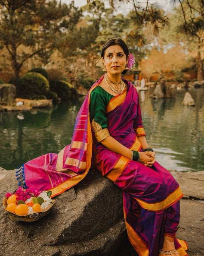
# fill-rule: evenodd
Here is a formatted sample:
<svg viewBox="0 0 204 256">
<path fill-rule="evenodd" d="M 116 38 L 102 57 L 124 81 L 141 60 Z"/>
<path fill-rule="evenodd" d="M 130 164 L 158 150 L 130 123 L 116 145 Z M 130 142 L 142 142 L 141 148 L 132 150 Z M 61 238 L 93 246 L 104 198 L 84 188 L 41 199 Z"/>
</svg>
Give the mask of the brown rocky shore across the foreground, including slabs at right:
<svg viewBox="0 0 204 256">
<path fill-rule="evenodd" d="M 189 256 L 204 255 L 204 171 L 171 171 L 184 193 L 177 237 Z M 0 168 L 0 196 L 17 188 L 14 171 Z M 49 215 L 34 222 L 13 221 L 0 205 L 0 256 L 136 256 L 127 240 L 122 197 L 95 171 L 56 196 Z"/>
</svg>

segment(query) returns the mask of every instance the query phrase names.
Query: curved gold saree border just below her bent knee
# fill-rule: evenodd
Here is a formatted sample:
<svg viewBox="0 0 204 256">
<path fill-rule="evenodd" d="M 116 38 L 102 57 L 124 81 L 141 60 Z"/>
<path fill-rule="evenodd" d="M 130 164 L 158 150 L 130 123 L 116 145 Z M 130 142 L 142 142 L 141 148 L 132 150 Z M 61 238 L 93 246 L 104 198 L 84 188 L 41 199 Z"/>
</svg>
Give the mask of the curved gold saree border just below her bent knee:
<svg viewBox="0 0 204 256">
<path fill-rule="evenodd" d="M 135 197 L 135 199 L 137 200 L 137 202 L 143 209 L 146 209 L 148 211 L 158 212 L 158 211 L 167 209 L 170 205 L 173 205 L 173 203 L 175 203 L 179 199 L 181 199 L 182 196 L 183 196 L 183 193 L 182 193 L 180 187 L 178 187 L 176 190 L 173 191 L 173 193 L 171 193 L 169 196 L 167 196 L 166 199 L 164 199 L 161 202 L 148 203 L 148 202 L 144 202 L 136 197 Z"/>
</svg>

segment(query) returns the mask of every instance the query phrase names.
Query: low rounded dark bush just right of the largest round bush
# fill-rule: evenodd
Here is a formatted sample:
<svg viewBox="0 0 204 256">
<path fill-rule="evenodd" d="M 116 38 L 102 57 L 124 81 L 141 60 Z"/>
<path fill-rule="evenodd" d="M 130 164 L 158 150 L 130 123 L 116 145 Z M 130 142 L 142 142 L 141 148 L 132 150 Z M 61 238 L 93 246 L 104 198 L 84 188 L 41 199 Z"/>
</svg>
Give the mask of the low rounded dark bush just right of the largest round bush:
<svg viewBox="0 0 204 256">
<path fill-rule="evenodd" d="M 55 92 L 62 100 L 69 100 L 77 97 L 76 89 L 67 81 L 51 81 L 50 90 Z"/>
</svg>

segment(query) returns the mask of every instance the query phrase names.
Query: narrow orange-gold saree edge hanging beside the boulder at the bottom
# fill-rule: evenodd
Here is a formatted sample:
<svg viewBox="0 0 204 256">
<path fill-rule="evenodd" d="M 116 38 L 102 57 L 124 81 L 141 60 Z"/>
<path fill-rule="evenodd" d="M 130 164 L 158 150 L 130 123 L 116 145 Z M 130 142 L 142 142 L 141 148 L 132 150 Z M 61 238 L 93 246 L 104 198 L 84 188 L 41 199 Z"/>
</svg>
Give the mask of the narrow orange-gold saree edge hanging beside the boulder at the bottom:
<svg viewBox="0 0 204 256">
<path fill-rule="evenodd" d="M 149 250 L 146 244 L 142 241 L 142 238 L 136 233 L 136 231 L 134 231 L 132 226 L 127 222 L 125 210 L 124 210 L 124 221 L 127 229 L 128 238 L 132 246 L 135 248 L 136 252 L 139 254 L 139 256 L 148 256 Z"/>
</svg>

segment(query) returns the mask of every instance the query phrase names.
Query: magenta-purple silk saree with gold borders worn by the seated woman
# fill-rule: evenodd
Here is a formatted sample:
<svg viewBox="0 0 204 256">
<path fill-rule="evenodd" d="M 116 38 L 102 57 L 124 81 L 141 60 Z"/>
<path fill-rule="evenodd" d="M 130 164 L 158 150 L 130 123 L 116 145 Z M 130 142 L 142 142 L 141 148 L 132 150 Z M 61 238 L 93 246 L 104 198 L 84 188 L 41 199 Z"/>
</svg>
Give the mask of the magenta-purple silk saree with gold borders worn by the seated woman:
<svg viewBox="0 0 204 256">
<path fill-rule="evenodd" d="M 19 185 L 52 191 L 52 197 L 76 185 L 90 167 L 112 180 L 123 191 L 124 219 L 129 240 L 140 256 L 158 256 L 164 232 L 175 236 L 182 192 L 172 175 L 157 162 L 151 167 L 112 152 L 96 141 L 89 117 L 90 93 L 76 118 L 70 145 L 59 154 L 49 153 L 28 161 L 16 170 Z M 127 81 L 126 81 L 127 82 Z M 141 150 L 138 136 L 145 135 L 139 95 L 128 89 L 109 101 L 106 109 L 111 136 L 133 150 Z M 184 241 L 175 240 L 180 256 L 186 256 Z"/>
</svg>

